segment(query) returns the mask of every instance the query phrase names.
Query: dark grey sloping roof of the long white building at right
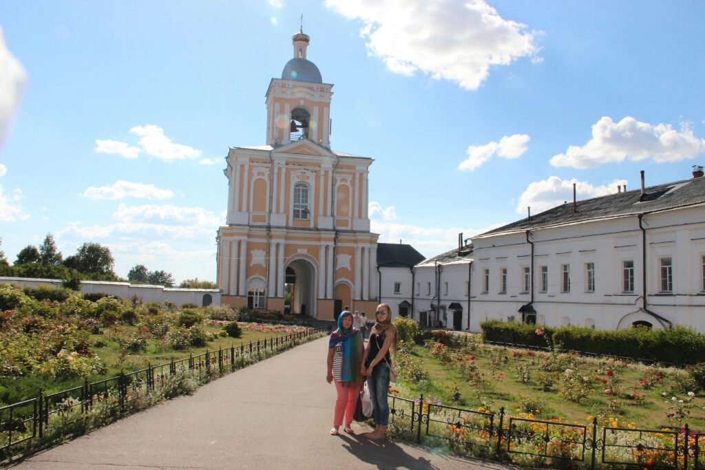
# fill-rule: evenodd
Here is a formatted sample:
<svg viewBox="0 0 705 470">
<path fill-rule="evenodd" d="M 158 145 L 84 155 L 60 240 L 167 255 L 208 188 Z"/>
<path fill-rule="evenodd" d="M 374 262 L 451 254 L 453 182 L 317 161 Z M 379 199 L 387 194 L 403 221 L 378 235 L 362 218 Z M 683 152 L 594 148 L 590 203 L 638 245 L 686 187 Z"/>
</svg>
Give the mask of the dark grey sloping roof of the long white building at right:
<svg viewBox="0 0 705 470">
<path fill-rule="evenodd" d="M 558 207 L 531 216 L 531 218 L 522 218 L 520 221 L 489 230 L 474 238 L 600 218 L 635 216 L 637 214 L 704 204 L 705 178 L 691 178 L 674 183 L 649 186 L 645 188 L 645 192 L 643 201 L 641 189 L 584 199 L 577 201 L 575 212 L 573 212 L 572 201 L 568 201 Z"/>
</svg>

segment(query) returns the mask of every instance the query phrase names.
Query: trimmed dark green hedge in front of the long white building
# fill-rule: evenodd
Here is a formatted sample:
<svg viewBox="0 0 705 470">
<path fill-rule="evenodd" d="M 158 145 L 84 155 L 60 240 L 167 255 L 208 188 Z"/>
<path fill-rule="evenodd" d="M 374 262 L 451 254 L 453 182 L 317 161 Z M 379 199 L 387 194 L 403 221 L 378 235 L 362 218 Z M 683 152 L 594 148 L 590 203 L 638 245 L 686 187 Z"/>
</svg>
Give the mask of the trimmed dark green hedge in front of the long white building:
<svg viewBox="0 0 705 470">
<path fill-rule="evenodd" d="M 705 335 L 682 325 L 669 330 L 644 327 L 594 330 L 580 326 L 551 328 L 491 320 L 480 323 L 480 327 L 484 340 L 515 345 L 546 347 L 556 343 L 563 350 L 682 365 L 696 364 L 705 357 Z M 544 335 L 537 335 L 537 328 L 545 330 Z"/>
</svg>

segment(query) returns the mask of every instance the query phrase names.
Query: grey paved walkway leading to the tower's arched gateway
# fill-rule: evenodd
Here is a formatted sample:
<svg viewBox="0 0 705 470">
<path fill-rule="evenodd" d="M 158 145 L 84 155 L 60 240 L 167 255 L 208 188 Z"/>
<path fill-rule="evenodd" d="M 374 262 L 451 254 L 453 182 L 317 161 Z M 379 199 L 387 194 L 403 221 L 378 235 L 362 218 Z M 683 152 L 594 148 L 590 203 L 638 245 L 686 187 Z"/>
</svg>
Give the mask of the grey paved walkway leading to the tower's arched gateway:
<svg viewBox="0 0 705 470">
<path fill-rule="evenodd" d="M 301 345 L 69 443 L 21 470 L 503 469 L 419 447 L 329 435 L 327 338 Z M 357 433 L 367 431 L 353 423 Z"/>
</svg>

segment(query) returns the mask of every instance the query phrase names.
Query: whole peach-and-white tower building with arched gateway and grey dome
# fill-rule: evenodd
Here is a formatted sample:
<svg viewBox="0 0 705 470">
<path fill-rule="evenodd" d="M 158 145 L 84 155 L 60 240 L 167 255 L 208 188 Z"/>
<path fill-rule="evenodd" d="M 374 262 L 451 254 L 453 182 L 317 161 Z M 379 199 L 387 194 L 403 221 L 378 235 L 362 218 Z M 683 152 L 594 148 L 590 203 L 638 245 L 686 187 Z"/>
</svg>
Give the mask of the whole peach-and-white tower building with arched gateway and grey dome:
<svg viewBox="0 0 705 470">
<path fill-rule="evenodd" d="M 333 85 L 307 60 L 310 38 L 266 93 L 266 142 L 229 149 L 228 212 L 218 231 L 221 302 L 333 319 L 343 307 L 374 311 L 376 247 L 367 194 L 373 160 L 332 151 Z"/>
</svg>

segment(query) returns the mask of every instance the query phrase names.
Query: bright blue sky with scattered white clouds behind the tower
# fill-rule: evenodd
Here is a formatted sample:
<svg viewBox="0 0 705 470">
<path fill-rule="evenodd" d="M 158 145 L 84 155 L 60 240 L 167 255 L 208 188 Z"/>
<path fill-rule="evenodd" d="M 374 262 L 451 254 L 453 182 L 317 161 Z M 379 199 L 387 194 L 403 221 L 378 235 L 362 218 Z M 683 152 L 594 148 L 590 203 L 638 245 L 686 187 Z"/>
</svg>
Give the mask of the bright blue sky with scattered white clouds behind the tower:
<svg viewBox="0 0 705 470">
<path fill-rule="evenodd" d="M 572 182 L 584 199 L 705 164 L 699 1 L 5 1 L 8 259 L 51 232 L 64 256 L 111 247 L 120 276 L 214 280 L 224 157 L 266 143 L 301 14 L 333 149 L 375 159 L 382 242 L 433 256 Z"/>
</svg>

